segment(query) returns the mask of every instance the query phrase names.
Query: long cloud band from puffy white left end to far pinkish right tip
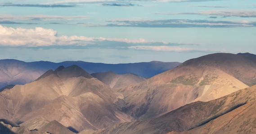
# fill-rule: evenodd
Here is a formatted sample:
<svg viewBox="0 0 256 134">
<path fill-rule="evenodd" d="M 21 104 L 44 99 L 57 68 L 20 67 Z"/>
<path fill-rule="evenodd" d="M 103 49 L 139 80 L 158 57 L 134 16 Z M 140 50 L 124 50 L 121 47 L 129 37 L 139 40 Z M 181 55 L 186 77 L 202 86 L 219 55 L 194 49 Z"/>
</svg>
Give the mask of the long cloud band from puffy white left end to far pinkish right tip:
<svg viewBox="0 0 256 134">
<path fill-rule="evenodd" d="M 57 36 L 57 31 L 53 29 L 44 29 L 37 27 L 36 29 L 13 29 L 0 25 L 0 46 L 5 47 L 26 47 L 33 49 L 135 49 L 135 50 L 156 50 L 156 51 L 185 51 L 180 46 L 198 46 L 200 44 L 193 43 L 168 43 L 157 42 L 153 40 L 126 39 L 126 38 L 93 38 L 85 36 Z M 161 48 L 161 49 L 159 49 Z M 172 49 L 171 49 L 172 48 Z M 175 48 L 175 50 L 173 50 Z M 179 49 L 180 48 L 180 49 Z M 190 50 L 190 49 L 187 49 Z M 187 51 L 186 50 L 186 51 Z"/>
</svg>

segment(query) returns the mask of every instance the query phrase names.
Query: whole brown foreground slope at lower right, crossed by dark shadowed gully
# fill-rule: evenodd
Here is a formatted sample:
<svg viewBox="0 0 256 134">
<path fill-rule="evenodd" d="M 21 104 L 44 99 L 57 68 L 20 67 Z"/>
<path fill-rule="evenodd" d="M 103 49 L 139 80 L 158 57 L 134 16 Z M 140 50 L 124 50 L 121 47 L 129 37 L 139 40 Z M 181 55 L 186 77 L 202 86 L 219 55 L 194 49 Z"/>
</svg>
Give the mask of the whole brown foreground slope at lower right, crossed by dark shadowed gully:
<svg viewBox="0 0 256 134">
<path fill-rule="evenodd" d="M 93 134 L 166 134 L 187 130 L 184 134 L 252 133 L 255 103 L 256 85 L 216 100 L 184 105 L 155 119 L 122 123 Z"/>
</svg>

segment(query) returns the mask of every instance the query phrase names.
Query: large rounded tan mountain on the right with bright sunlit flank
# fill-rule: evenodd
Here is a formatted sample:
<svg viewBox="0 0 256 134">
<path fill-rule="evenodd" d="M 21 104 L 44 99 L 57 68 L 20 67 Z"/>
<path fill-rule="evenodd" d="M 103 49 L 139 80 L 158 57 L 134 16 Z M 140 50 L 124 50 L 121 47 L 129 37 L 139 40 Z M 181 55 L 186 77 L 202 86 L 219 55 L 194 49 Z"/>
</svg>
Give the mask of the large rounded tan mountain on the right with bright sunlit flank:
<svg viewBox="0 0 256 134">
<path fill-rule="evenodd" d="M 127 102 L 122 110 L 144 120 L 196 100 L 214 100 L 247 88 L 246 84 L 256 80 L 252 59 L 223 53 L 190 59 L 139 84 L 117 89 Z"/>
</svg>

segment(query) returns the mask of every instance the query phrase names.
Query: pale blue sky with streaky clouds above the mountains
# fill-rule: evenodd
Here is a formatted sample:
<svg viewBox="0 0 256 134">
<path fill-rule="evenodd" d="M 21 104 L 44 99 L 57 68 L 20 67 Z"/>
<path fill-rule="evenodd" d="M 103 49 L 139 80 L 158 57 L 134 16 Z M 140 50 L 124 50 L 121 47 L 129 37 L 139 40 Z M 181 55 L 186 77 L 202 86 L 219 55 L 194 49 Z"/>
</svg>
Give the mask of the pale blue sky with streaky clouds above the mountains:
<svg viewBox="0 0 256 134">
<path fill-rule="evenodd" d="M 184 62 L 256 54 L 256 0 L 0 0 L 0 59 Z"/>
</svg>

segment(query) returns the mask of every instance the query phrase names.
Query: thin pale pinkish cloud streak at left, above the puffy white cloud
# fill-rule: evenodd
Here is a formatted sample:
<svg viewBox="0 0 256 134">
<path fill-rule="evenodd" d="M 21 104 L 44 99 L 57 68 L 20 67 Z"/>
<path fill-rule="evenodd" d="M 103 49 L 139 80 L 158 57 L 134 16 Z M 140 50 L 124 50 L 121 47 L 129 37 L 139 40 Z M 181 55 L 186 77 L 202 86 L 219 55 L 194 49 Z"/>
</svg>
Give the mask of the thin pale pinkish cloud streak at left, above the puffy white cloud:
<svg viewBox="0 0 256 134">
<path fill-rule="evenodd" d="M 68 20 L 85 20 L 90 16 L 56 16 L 56 15 L 11 15 L 11 14 L 0 14 L 0 21 L 68 21 Z"/>
</svg>

